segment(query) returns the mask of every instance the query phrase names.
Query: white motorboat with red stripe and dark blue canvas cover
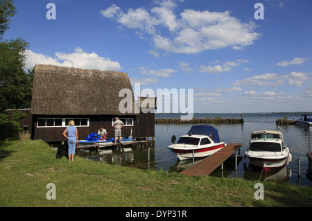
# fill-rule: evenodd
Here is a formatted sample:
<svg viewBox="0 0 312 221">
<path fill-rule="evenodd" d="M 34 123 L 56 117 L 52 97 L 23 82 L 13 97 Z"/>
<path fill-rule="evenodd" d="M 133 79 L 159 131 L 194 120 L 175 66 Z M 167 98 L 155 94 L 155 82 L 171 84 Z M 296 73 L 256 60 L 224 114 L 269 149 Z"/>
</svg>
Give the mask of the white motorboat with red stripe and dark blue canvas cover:
<svg viewBox="0 0 312 221">
<path fill-rule="evenodd" d="M 192 159 L 193 157 L 207 157 L 225 147 L 220 142 L 218 130 L 209 125 L 196 125 L 191 127 L 187 135 L 180 136 L 177 143 L 169 145 L 180 160 Z"/>
</svg>

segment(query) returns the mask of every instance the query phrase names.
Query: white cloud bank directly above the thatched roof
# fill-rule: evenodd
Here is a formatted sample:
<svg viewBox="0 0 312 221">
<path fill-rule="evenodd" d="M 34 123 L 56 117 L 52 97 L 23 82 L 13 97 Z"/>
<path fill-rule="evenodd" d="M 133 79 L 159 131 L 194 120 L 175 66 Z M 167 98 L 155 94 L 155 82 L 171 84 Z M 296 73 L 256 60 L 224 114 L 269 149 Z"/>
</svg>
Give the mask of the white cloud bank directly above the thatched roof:
<svg viewBox="0 0 312 221">
<path fill-rule="evenodd" d="M 26 50 L 26 69 L 32 69 L 35 64 L 52 64 L 64 67 L 76 67 L 81 69 L 98 69 L 101 71 L 119 71 L 119 62 L 112 62 L 110 58 L 103 58 L 96 53 L 86 53 L 78 47 L 74 53 L 55 53 L 56 58 L 49 55 L 35 53 Z"/>
</svg>

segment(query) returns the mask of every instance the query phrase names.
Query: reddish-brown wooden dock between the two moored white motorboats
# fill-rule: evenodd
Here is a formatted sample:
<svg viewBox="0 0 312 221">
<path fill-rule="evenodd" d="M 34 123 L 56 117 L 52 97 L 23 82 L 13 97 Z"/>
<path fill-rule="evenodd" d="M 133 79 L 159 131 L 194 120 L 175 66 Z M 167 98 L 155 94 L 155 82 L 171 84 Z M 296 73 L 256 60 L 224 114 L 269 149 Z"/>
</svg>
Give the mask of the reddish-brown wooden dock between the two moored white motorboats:
<svg viewBox="0 0 312 221">
<path fill-rule="evenodd" d="M 219 150 L 218 152 L 206 157 L 202 161 L 199 161 L 195 165 L 187 168 L 187 170 L 182 171 L 182 175 L 198 176 L 198 175 L 209 175 L 218 166 L 221 165 L 226 159 L 232 156 L 236 150 L 239 150 L 243 143 L 229 143 L 225 148 Z"/>
</svg>

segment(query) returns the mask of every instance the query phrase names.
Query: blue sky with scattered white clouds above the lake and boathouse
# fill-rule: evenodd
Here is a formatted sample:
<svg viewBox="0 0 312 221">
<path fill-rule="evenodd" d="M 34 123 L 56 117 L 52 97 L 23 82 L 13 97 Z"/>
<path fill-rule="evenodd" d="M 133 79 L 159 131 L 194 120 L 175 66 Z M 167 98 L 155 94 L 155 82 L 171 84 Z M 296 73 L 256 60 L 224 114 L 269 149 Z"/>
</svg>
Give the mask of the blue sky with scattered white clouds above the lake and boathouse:
<svg viewBox="0 0 312 221">
<path fill-rule="evenodd" d="M 310 0 L 13 2 L 4 38 L 30 43 L 27 68 L 122 71 L 141 90 L 193 89 L 194 112 L 312 110 Z"/>
</svg>

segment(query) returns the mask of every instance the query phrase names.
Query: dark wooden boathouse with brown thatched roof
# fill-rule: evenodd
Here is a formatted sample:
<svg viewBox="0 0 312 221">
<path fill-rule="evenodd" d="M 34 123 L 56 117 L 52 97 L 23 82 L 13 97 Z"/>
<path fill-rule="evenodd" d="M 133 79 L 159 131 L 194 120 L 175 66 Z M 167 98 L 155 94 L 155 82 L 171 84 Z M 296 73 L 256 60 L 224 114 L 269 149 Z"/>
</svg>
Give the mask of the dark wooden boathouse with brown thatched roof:
<svg viewBox="0 0 312 221">
<path fill-rule="evenodd" d="M 78 127 L 79 139 L 100 127 L 114 136 L 112 122 L 119 116 L 125 123 L 122 135 L 154 137 L 154 113 L 138 111 L 132 91 L 132 112 L 119 111 L 121 89 L 132 91 L 128 73 L 85 70 L 39 64 L 35 67 L 31 114 L 33 139 L 65 141 L 62 136 L 69 120 Z M 131 105 L 130 105 L 131 107 Z"/>
</svg>

